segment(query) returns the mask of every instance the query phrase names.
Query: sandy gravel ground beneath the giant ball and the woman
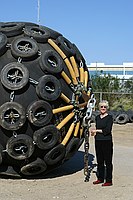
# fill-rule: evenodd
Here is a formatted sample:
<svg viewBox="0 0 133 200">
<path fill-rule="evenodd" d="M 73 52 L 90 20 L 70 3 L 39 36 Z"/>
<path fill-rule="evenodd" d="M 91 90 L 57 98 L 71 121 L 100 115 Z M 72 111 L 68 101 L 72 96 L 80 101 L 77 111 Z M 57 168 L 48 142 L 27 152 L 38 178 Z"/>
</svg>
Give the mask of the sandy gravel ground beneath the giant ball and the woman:
<svg viewBox="0 0 133 200">
<path fill-rule="evenodd" d="M 0 179 L 0 200 L 132 200 L 133 123 L 113 126 L 113 186 L 93 185 L 96 167 L 84 182 L 84 144 L 64 165 L 40 179 Z M 94 139 L 90 138 L 90 164 L 95 166 Z"/>
</svg>

